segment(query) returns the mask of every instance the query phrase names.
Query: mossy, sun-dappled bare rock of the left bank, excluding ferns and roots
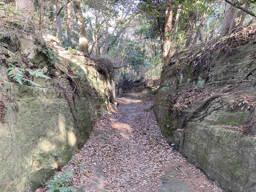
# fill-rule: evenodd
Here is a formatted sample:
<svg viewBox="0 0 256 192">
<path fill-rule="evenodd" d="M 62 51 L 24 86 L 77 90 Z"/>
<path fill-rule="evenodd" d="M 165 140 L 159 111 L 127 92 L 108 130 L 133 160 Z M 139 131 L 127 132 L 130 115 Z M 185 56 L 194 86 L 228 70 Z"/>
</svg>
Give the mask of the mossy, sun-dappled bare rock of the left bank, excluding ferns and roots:
<svg viewBox="0 0 256 192">
<path fill-rule="evenodd" d="M 0 123 L 1 192 L 35 190 L 35 180 L 46 180 L 58 166 L 66 164 L 86 142 L 97 110 L 106 111 L 109 106 L 106 79 L 95 70 L 93 61 L 83 64 L 75 56 L 59 57 L 58 65 L 67 73 L 67 68 L 74 66 L 83 72 L 76 81 L 79 91 L 72 94 L 71 82 L 49 60 L 42 40 L 15 32 L 0 31 L 0 105 L 4 109 Z M 42 69 L 52 79 L 34 76 L 32 80 L 42 87 L 18 84 L 7 76 L 10 63 Z"/>
</svg>

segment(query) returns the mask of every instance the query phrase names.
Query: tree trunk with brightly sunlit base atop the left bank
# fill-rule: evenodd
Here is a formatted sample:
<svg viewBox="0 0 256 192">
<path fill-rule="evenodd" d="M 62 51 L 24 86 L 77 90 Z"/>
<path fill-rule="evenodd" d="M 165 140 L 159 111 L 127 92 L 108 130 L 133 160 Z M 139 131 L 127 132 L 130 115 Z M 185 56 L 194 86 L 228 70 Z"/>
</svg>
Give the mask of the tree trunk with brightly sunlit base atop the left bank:
<svg viewBox="0 0 256 192">
<path fill-rule="evenodd" d="M 86 56 L 89 56 L 88 38 L 84 27 L 84 17 L 82 15 L 80 3 L 78 1 L 73 1 L 73 5 L 79 37 L 79 51 L 84 52 Z"/>
</svg>

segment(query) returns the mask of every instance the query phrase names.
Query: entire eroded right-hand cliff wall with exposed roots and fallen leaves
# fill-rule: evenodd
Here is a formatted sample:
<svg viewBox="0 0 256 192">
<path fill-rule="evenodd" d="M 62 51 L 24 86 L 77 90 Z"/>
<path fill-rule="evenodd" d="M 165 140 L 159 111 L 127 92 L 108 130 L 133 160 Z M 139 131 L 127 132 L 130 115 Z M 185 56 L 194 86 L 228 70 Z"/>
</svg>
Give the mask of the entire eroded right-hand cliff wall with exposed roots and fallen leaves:
<svg viewBox="0 0 256 192">
<path fill-rule="evenodd" d="M 256 191 L 255 26 L 176 53 L 153 109 L 169 144 L 226 191 Z"/>
</svg>

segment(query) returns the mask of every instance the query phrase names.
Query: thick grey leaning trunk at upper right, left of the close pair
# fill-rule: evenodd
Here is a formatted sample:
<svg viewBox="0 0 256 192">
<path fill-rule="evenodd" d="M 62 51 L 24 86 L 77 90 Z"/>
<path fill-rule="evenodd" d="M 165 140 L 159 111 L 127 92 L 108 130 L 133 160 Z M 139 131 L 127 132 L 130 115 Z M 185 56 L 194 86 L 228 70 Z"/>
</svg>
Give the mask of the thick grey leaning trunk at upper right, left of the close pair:
<svg viewBox="0 0 256 192">
<path fill-rule="evenodd" d="M 231 25 L 232 19 L 235 15 L 235 11 L 237 9 L 229 3 L 226 3 L 225 6 L 226 6 L 226 8 L 225 8 L 225 13 L 224 13 L 224 18 L 222 20 L 220 35 L 227 35 L 227 33 L 229 32 L 229 27 Z"/>
</svg>

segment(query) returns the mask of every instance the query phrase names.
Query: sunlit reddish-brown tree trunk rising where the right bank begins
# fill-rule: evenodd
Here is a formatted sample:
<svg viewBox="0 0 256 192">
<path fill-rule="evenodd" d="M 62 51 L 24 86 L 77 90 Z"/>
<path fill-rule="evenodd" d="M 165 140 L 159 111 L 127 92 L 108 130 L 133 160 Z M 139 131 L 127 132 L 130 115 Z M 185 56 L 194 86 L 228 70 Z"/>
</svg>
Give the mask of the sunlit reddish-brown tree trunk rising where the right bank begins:
<svg viewBox="0 0 256 192">
<path fill-rule="evenodd" d="M 172 32 L 172 4 L 171 0 L 167 0 L 165 4 L 165 22 L 164 22 L 164 65 L 167 64 L 168 59 L 171 54 L 172 41 L 171 41 L 171 32 Z"/>
</svg>

